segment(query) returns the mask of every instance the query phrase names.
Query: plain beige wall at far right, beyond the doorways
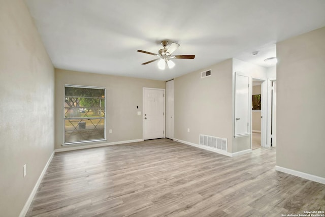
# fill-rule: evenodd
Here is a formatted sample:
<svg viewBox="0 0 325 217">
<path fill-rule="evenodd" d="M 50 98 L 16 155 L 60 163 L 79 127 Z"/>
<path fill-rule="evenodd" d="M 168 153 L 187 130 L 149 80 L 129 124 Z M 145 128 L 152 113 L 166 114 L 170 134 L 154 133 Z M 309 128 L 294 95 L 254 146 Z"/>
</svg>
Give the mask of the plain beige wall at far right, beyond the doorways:
<svg viewBox="0 0 325 217">
<path fill-rule="evenodd" d="M 325 27 L 277 44 L 277 166 L 325 177 Z"/>
</svg>

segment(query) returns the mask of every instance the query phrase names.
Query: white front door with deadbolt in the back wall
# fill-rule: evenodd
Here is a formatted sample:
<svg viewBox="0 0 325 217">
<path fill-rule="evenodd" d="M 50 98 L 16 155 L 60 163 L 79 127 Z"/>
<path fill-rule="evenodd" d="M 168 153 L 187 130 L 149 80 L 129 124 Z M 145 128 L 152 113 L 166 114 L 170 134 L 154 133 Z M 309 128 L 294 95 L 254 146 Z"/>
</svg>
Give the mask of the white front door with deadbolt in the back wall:
<svg viewBox="0 0 325 217">
<path fill-rule="evenodd" d="M 143 138 L 165 137 L 165 89 L 143 89 Z"/>
</svg>

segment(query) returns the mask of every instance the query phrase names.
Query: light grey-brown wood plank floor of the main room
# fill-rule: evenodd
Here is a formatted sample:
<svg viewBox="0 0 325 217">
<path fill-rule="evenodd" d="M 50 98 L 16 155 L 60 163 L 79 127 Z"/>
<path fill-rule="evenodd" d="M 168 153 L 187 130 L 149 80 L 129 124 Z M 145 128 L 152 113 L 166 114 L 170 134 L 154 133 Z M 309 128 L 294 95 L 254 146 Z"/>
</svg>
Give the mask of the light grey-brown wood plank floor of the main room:
<svg viewBox="0 0 325 217">
<path fill-rule="evenodd" d="M 325 185 L 169 139 L 56 153 L 26 216 L 281 216 L 325 210 Z"/>
</svg>

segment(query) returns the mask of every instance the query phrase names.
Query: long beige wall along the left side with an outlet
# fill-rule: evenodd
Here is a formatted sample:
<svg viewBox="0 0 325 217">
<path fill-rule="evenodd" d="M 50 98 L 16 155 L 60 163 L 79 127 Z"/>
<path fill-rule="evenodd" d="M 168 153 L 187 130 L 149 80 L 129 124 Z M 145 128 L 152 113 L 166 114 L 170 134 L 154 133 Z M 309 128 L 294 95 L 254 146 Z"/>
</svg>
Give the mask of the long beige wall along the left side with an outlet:
<svg viewBox="0 0 325 217">
<path fill-rule="evenodd" d="M 0 5 L 0 215 L 16 217 L 53 152 L 54 69 L 24 2 Z"/>
</svg>

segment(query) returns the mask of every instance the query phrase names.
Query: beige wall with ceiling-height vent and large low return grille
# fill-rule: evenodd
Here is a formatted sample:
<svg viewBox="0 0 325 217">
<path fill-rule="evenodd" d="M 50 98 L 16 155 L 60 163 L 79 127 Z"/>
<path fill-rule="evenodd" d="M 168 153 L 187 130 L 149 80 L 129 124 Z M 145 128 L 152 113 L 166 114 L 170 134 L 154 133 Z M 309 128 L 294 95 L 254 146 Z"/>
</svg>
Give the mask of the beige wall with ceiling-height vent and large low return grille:
<svg viewBox="0 0 325 217">
<path fill-rule="evenodd" d="M 201 78 L 201 72 L 212 70 Z M 199 144 L 199 135 L 228 139 L 232 150 L 232 59 L 175 78 L 174 137 Z M 187 128 L 190 132 L 187 132 Z"/>
</svg>

